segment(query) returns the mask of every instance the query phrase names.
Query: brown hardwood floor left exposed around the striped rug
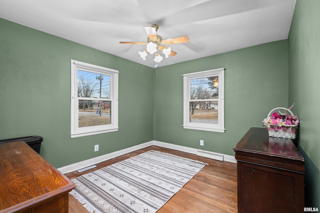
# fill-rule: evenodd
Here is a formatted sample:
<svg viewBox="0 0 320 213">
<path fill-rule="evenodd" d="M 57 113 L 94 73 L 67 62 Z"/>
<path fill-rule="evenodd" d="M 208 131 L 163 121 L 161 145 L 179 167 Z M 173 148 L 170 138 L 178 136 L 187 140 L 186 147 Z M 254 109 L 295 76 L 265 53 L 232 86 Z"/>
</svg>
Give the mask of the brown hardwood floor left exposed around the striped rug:
<svg viewBox="0 0 320 213">
<path fill-rule="evenodd" d="M 157 213 L 237 213 L 236 164 L 215 161 L 181 151 L 150 146 L 114 159 L 96 164 L 81 173 L 65 174 L 69 179 L 109 166 L 148 150 L 171 153 L 207 163 L 184 187 Z M 86 213 L 82 205 L 69 195 L 69 213 Z"/>
</svg>

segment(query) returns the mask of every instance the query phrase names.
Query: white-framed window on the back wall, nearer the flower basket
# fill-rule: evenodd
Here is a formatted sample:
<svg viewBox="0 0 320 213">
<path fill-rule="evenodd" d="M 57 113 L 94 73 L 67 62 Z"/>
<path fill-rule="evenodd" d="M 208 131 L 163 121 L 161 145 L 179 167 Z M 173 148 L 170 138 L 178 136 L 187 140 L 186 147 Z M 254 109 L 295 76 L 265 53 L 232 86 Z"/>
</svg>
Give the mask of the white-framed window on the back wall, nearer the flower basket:
<svg viewBox="0 0 320 213">
<path fill-rule="evenodd" d="M 183 76 L 183 128 L 224 132 L 224 68 Z"/>
</svg>

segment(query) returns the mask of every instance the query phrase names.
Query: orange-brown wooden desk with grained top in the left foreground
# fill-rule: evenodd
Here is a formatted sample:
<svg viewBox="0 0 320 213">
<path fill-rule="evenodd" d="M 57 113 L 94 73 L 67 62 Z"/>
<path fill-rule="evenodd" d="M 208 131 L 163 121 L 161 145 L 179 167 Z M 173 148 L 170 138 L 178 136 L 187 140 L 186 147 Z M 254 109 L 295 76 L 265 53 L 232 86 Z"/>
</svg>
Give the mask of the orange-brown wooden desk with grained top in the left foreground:
<svg viewBox="0 0 320 213">
<path fill-rule="evenodd" d="M 74 188 L 23 141 L 0 144 L 0 213 L 67 213 Z"/>
</svg>

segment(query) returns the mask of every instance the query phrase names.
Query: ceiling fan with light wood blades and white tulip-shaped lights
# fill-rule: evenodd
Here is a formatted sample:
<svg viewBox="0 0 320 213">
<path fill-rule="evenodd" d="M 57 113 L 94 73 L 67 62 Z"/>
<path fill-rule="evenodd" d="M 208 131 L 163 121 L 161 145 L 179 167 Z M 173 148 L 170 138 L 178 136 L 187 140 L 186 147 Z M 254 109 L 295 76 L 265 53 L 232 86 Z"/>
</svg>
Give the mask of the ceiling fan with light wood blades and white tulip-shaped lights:
<svg viewBox="0 0 320 213">
<path fill-rule="evenodd" d="M 152 24 L 151 26 L 144 26 L 144 29 L 148 35 L 147 41 L 146 42 L 131 42 L 131 41 L 120 41 L 120 44 L 143 44 L 146 45 L 146 49 L 143 52 L 138 52 L 140 57 L 145 60 L 145 56 L 150 53 L 153 54 L 155 53 L 154 61 L 155 62 L 160 62 L 163 57 L 159 55 L 157 52 L 160 50 L 164 55 L 165 58 L 169 56 L 174 56 L 176 55 L 176 52 L 171 50 L 170 47 L 163 46 L 163 44 L 175 44 L 175 43 L 187 43 L 189 42 L 188 36 L 179 36 L 179 37 L 174 37 L 174 38 L 168 38 L 162 40 L 162 37 L 160 35 L 156 34 L 156 31 L 158 30 L 159 26 L 156 24 Z"/>
</svg>

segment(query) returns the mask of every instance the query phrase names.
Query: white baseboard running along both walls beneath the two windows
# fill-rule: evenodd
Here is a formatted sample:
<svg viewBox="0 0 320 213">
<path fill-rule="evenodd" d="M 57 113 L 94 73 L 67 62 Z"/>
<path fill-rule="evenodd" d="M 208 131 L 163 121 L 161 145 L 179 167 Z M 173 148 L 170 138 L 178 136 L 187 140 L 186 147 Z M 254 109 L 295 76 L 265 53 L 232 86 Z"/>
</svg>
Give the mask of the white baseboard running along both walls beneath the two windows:
<svg viewBox="0 0 320 213">
<path fill-rule="evenodd" d="M 182 151 L 182 152 L 186 152 L 186 153 L 191 153 L 191 154 L 195 154 L 195 155 L 198 154 L 198 151 L 204 151 L 206 153 L 210 153 L 210 154 L 213 154 L 213 155 L 223 156 L 223 158 L 222 158 L 223 161 L 230 162 L 230 163 L 236 163 L 236 160 L 235 160 L 234 156 L 224 155 L 224 154 L 214 153 L 214 152 L 208 152 L 208 151 L 205 151 L 205 150 L 198 150 L 198 149 L 194 149 L 194 148 L 189 148 L 189 147 L 184 147 L 184 146 L 164 143 L 164 142 L 160 142 L 160 141 L 149 141 L 149 142 L 146 142 L 146 143 L 143 143 L 143 144 L 139 144 L 139 145 L 136 145 L 136 146 L 133 146 L 133 147 L 129 147 L 129 148 L 126 148 L 126 149 L 123 149 L 123 150 L 119 150 L 119 151 L 112 152 L 112 153 L 109 153 L 109 154 L 101 155 L 101 156 L 98 156 L 98 157 L 95 157 L 95 158 L 91 158 L 91 159 L 87 159 L 87 160 L 84 160 L 84 161 L 80 161 L 80 162 L 77 162 L 77 163 L 74 163 L 74 164 L 66 165 L 64 167 L 58 168 L 58 170 L 61 173 L 66 174 L 66 173 L 73 172 L 73 171 L 76 171 L 76 170 L 79 170 L 79 169 L 82 169 L 82 168 L 85 168 L 85 167 L 88 167 L 88 166 L 103 162 L 103 161 L 106 161 L 106 160 L 109 160 L 109 159 L 112 159 L 112 158 L 115 158 L 115 157 L 130 153 L 130 152 L 134 152 L 136 150 L 143 149 L 145 147 L 149 147 L 149 146 L 152 146 L 152 145 L 163 147 L 163 148 L 168 148 L 168 149 L 173 149 L 173 150 L 178 150 L 178 151 Z"/>
</svg>

